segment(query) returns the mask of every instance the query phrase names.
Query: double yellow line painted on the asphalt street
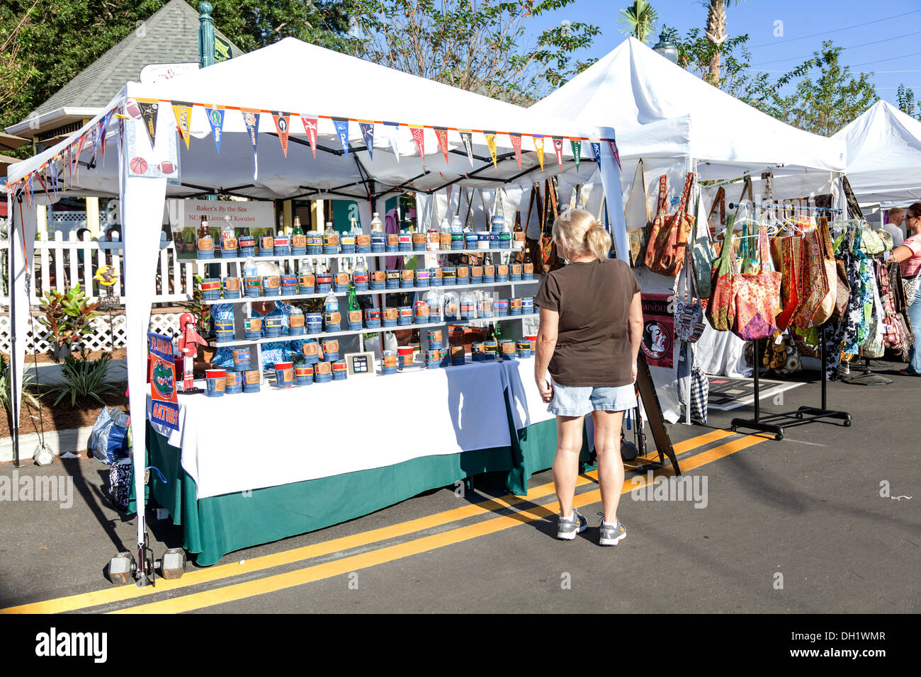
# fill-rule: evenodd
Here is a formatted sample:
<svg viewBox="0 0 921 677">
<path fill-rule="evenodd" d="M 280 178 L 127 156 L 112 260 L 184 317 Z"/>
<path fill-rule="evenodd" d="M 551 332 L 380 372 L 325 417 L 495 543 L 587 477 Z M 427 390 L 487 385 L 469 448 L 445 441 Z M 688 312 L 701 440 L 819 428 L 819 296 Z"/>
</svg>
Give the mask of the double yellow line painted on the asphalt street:
<svg viewBox="0 0 921 677">
<path fill-rule="evenodd" d="M 730 437 L 732 434 L 726 430 L 713 430 L 705 435 L 691 438 L 674 445 L 675 453 L 682 453 L 692 449 L 705 446 L 719 439 Z M 764 441 L 764 437 L 747 437 L 739 438 L 728 443 L 722 444 L 715 449 L 704 451 L 696 454 L 690 459 L 682 461 L 682 471 L 694 470 L 708 462 L 716 461 L 719 458 L 728 456 L 741 449 L 746 449 L 752 445 Z M 670 469 L 665 471 L 670 473 Z M 591 484 L 595 481 L 597 473 L 587 473 L 577 480 L 577 485 L 582 486 Z M 628 487 L 624 483 L 624 493 L 636 488 L 642 484 L 631 483 Z M 642 478 L 643 484 L 646 479 Z M 554 493 L 553 484 L 542 484 L 534 487 L 528 492 L 527 496 L 501 496 L 499 498 L 481 501 L 453 508 L 444 512 L 430 515 L 428 517 L 411 519 L 409 521 L 394 524 L 389 527 L 383 527 L 371 531 L 357 533 L 343 538 L 332 539 L 324 543 L 315 543 L 283 553 L 266 554 L 260 557 L 254 557 L 242 563 L 234 563 L 220 566 L 212 566 L 207 569 L 197 569 L 185 574 L 180 579 L 166 580 L 159 579 L 156 588 L 136 588 L 134 586 L 122 586 L 119 588 L 108 588 L 96 590 L 93 592 L 71 595 L 55 600 L 39 601 L 29 604 L 23 604 L 16 607 L 9 607 L 0 610 L 0 613 L 62 613 L 75 611 L 77 609 L 86 609 L 88 607 L 99 606 L 104 604 L 127 601 L 136 598 L 143 598 L 148 595 L 161 592 L 168 592 L 176 589 L 188 588 L 193 585 L 202 585 L 204 583 L 219 581 L 224 578 L 237 577 L 244 574 L 251 574 L 272 568 L 274 566 L 284 566 L 294 564 L 303 560 L 319 557 L 325 554 L 338 553 L 352 548 L 368 545 L 370 543 L 379 543 L 391 538 L 396 538 L 417 531 L 432 529 L 450 522 L 467 519 L 484 513 L 495 512 L 502 508 L 512 508 L 525 502 L 533 502 L 543 496 L 549 496 Z M 575 505 L 582 507 L 596 503 L 600 500 L 600 490 L 586 492 L 576 496 Z M 179 613 L 192 611 L 207 606 L 224 603 L 227 601 L 236 601 L 253 597 L 256 595 L 273 592 L 279 589 L 291 588 L 311 581 L 320 580 L 321 578 L 330 578 L 332 576 L 342 575 L 356 571 L 357 569 L 367 568 L 391 562 L 395 559 L 407 557 L 412 554 L 424 553 L 440 547 L 445 547 L 453 543 L 462 543 L 477 536 L 483 536 L 495 531 L 502 531 L 518 524 L 530 522 L 536 519 L 546 519 L 552 516 L 558 510 L 558 505 L 554 502 L 546 506 L 535 506 L 522 509 L 510 515 L 498 516 L 493 519 L 485 519 L 464 527 L 459 527 L 443 533 L 433 534 L 422 538 L 415 539 L 406 543 L 379 548 L 367 553 L 356 554 L 333 562 L 308 566 L 295 571 L 274 576 L 260 578 L 257 580 L 244 581 L 225 587 L 204 590 L 201 592 L 184 595 L 176 599 L 163 601 L 154 601 L 147 604 L 141 604 L 134 607 L 128 607 L 114 613 Z"/>
</svg>

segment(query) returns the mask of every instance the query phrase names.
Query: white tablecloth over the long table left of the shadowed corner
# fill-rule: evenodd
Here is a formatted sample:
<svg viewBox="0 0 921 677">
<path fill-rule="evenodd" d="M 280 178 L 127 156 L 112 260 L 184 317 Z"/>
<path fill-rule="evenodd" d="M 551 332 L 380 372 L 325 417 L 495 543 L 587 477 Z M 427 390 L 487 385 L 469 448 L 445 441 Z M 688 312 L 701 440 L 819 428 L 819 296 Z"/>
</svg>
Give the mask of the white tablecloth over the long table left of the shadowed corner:
<svg viewBox="0 0 921 677">
<path fill-rule="evenodd" d="M 259 393 L 181 396 L 181 432 L 169 431 L 169 444 L 181 449 L 199 498 L 507 447 L 503 367 L 412 368 L 284 391 L 263 383 Z"/>
</svg>

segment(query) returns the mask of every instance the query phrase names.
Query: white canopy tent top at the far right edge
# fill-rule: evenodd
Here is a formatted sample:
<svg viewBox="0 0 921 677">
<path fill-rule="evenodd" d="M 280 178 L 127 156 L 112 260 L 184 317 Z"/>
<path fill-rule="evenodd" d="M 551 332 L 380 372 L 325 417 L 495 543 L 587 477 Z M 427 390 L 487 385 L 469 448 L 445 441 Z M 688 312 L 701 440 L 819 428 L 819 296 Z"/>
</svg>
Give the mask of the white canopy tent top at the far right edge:
<svg viewBox="0 0 921 677">
<path fill-rule="evenodd" d="M 859 204 L 921 200 L 921 122 L 880 100 L 832 138 L 847 146 L 847 181 Z"/>
</svg>

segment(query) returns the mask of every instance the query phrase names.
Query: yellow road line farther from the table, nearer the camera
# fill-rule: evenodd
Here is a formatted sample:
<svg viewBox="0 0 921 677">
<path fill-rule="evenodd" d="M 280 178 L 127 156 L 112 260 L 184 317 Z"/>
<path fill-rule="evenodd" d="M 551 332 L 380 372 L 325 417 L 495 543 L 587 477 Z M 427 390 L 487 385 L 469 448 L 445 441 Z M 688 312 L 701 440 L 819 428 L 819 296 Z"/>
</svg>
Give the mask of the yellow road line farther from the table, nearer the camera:
<svg viewBox="0 0 921 677">
<path fill-rule="evenodd" d="M 720 445 L 716 449 L 710 449 L 709 451 L 705 451 L 698 456 L 694 456 L 692 459 L 688 460 L 691 462 L 686 461 L 685 465 L 687 466 L 688 470 L 692 470 L 694 468 L 700 467 L 701 465 L 705 465 L 705 463 L 717 461 L 717 459 L 729 456 L 730 454 L 740 451 L 741 449 L 746 449 L 756 444 L 760 444 L 765 439 L 770 438 L 752 436 L 736 439 L 731 442 L 727 442 L 726 444 Z M 670 466 L 659 474 L 669 473 L 671 473 Z M 639 480 L 638 482 L 637 479 Z M 646 484 L 647 476 L 631 478 L 629 481 L 624 481 L 624 487 L 621 490 L 621 494 L 626 494 L 636 488 L 645 486 Z M 600 489 L 594 489 L 592 491 L 585 492 L 584 494 L 578 494 L 573 502 L 573 505 L 576 508 L 581 508 L 583 506 L 597 503 L 600 501 L 600 499 Z M 223 604 L 229 601 L 244 600 L 269 592 L 277 592 L 278 590 L 282 589 L 294 588 L 296 586 L 303 585 L 305 583 L 311 583 L 323 578 L 342 576 L 359 569 L 385 564 L 387 562 L 402 559 L 403 557 L 408 557 L 413 554 L 426 553 L 432 550 L 436 550 L 437 548 L 445 547 L 447 545 L 462 543 L 472 538 L 477 538 L 478 536 L 495 533 L 496 531 L 503 531 L 510 527 L 534 521 L 536 519 L 546 519 L 556 514 L 558 510 L 559 503 L 554 501 L 553 503 L 545 504 L 542 506 L 525 508 L 510 515 L 503 515 L 493 519 L 484 519 L 483 521 L 476 522 L 475 524 L 471 524 L 465 527 L 458 527 L 457 529 L 453 529 L 451 531 L 444 531 L 442 533 L 433 534 L 431 536 L 424 536 L 422 538 L 415 539 L 414 541 L 408 541 L 406 543 L 397 543 L 395 545 L 379 548 L 378 550 L 373 550 L 368 553 L 355 554 L 321 565 L 307 566 L 305 568 L 297 569 L 296 571 L 290 571 L 285 574 L 276 574 L 274 576 L 260 578 L 258 580 L 228 585 L 223 588 L 204 590 L 202 592 L 192 593 L 191 595 L 185 595 L 172 600 L 155 601 L 148 604 L 142 604 L 140 606 L 120 609 L 110 613 L 182 613 L 194 611 L 196 609 L 203 609 L 204 607 L 214 606 L 216 604 Z"/>
</svg>

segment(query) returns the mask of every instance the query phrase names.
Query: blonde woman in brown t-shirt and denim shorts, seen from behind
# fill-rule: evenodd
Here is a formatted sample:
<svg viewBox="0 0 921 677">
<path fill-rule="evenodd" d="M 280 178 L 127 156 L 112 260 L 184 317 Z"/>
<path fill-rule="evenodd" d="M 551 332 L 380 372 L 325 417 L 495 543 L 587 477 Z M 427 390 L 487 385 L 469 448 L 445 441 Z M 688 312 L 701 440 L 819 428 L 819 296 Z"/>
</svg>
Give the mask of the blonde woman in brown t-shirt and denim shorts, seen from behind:
<svg viewBox="0 0 921 677">
<path fill-rule="evenodd" d="M 627 263 L 608 258 L 611 236 L 583 209 L 556 219 L 554 243 L 568 264 L 544 278 L 535 299 L 541 327 L 534 379 L 547 410 L 556 415 L 556 536 L 571 541 L 588 528 L 573 500 L 583 418 L 591 414 L 603 508 L 599 543 L 616 545 L 626 536 L 617 519 L 624 485 L 621 425 L 624 411 L 636 406 L 636 356 L 643 337 L 639 284 Z"/>
</svg>

